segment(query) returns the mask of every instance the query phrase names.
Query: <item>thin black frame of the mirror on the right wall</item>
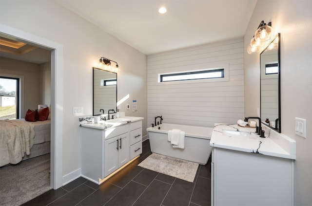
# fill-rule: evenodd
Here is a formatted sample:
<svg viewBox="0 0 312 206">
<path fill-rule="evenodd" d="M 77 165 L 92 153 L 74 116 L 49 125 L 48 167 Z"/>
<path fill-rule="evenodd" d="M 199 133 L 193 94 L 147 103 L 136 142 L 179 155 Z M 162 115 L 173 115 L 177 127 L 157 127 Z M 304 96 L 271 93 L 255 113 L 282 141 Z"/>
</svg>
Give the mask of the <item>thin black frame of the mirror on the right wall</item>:
<svg viewBox="0 0 312 206">
<path fill-rule="evenodd" d="M 278 38 L 278 42 L 277 42 L 277 64 L 278 64 L 278 124 L 275 124 L 275 128 L 269 126 L 271 129 L 278 131 L 279 133 L 281 133 L 281 65 L 280 65 L 280 33 L 278 33 L 274 38 L 273 41 Z M 271 41 L 269 43 L 269 45 L 260 53 L 260 118 L 261 118 L 261 122 L 265 125 L 267 125 L 267 123 L 265 122 L 265 118 L 263 118 L 261 116 L 261 55 L 262 53 L 264 53 L 265 51 L 268 51 L 269 46 L 271 45 L 271 43 L 273 43 L 273 41 Z"/>
</svg>

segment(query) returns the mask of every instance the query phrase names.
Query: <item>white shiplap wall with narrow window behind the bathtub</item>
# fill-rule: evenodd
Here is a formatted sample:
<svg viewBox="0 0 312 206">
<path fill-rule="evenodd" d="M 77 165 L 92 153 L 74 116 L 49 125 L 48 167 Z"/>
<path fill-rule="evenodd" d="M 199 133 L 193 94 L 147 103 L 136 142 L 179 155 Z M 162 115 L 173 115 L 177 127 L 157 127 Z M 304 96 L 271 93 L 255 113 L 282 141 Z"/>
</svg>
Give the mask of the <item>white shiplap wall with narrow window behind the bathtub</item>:
<svg viewBox="0 0 312 206">
<path fill-rule="evenodd" d="M 213 127 L 244 118 L 244 42 L 235 38 L 147 57 L 148 127 L 156 116 L 163 122 Z M 164 72 L 228 65 L 229 80 L 159 84 Z M 158 119 L 159 120 L 159 119 Z"/>
</svg>

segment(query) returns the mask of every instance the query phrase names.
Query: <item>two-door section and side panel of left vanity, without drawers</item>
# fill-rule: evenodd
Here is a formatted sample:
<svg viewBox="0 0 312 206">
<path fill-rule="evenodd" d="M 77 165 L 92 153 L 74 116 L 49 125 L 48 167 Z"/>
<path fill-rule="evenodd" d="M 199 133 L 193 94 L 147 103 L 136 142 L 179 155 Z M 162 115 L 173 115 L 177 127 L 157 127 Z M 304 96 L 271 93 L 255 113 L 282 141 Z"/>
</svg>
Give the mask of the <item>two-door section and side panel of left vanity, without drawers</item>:
<svg viewBox="0 0 312 206">
<path fill-rule="evenodd" d="M 85 178 L 100 184 L 129 157 L 129 124 L 106 130 L 81 127 L 81 175 Z"/>
</svg>

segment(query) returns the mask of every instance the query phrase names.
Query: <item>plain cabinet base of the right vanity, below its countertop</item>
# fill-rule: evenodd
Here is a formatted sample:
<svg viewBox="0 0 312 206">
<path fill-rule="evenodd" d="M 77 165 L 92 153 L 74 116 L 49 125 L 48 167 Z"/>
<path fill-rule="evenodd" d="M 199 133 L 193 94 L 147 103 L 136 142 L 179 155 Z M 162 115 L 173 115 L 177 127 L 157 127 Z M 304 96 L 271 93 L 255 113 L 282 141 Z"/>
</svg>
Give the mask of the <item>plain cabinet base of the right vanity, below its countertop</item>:
<svg viewBox="0 0 312 206">
<path fill-rule="evenodd" d="M 292 206 L 293 160 L 213 148 L 212 206 Z"/>
</svg>

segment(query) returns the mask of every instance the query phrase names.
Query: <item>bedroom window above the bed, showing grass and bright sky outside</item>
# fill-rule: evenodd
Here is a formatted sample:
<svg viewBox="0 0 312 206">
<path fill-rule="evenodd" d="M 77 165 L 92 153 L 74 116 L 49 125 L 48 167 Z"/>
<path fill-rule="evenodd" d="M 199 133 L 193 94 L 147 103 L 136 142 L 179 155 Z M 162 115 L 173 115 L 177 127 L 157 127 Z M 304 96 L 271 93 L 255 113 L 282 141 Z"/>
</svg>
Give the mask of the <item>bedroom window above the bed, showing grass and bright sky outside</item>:
<svg viewBox="0 0 312 206">
<path fill-rule="evenodd" d="M 0 76 L 0 119 L 19 119 L 20 78 Z"/>
</svg>

